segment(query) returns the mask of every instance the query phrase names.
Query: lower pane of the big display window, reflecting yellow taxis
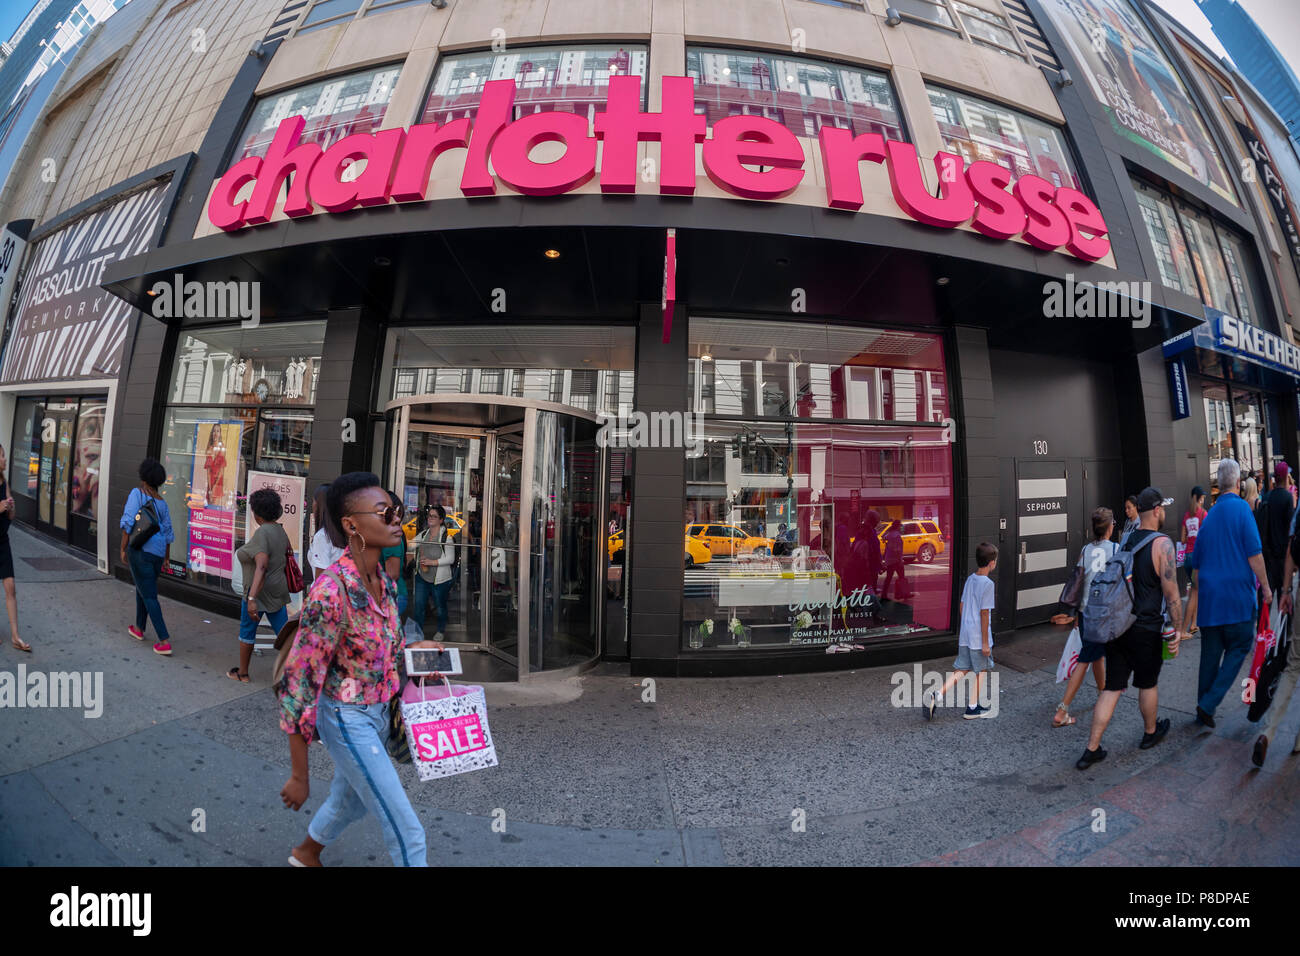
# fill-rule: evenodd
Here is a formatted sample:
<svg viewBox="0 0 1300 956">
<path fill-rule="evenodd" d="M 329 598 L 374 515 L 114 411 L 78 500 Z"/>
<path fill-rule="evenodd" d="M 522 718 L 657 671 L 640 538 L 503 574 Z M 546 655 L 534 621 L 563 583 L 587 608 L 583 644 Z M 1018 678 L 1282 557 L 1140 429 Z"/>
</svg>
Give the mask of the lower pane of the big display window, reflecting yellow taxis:
<svg viewBox="0 0 1300 956">
<path fill-rule="evenodd" d="M 952 502 L 940 427 L 707 421 L 686 460 L 682 645 L 948 628 Z"/>
</svg>

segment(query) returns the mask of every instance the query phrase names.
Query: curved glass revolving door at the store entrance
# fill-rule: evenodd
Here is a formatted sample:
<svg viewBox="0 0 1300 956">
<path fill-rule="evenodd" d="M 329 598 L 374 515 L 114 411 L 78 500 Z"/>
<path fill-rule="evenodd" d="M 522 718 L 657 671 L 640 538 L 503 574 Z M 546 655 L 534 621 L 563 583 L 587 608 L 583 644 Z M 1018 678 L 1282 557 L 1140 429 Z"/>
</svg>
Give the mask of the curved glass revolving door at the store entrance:
<svg viewBox="0 0 1300 956">
<path fill-rule="evenodd" d="M 407 618 L 462 649 L 465 679 L 581 669 L 601 653 L 606 572 L 597 420 L 556 403 L 465 398 L 385 408 L 386 484 L 406 506 Z"/>
</svg>

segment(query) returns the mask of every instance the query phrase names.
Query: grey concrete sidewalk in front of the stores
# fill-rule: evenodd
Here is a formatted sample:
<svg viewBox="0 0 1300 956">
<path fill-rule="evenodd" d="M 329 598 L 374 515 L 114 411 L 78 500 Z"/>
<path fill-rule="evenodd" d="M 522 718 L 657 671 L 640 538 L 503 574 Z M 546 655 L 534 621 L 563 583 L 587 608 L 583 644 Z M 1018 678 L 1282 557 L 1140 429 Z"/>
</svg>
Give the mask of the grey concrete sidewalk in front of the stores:
<svg viewBox="0 0 1300 956">
<path fill-rule="evenodd" d="M 35 652 L 5 641 L 0 670 L 103 671 L 105 704 L 99 719 L 4 711 L 0 864 L 283 865 L 332 769 L 311 748 L 307 809 L 283 809 L 289 748 L 270 658 L 254 658 L 252 684 L 228 680 L 237 622 L 166 598 L 176 656 L 160 658 L 126 635 L 127 585 L 92 568 L 43 571 L 30 559 L 66 555 L 18 527 L 12 538 Z M 1165 741 L 1138 749 L 1128 691 L 1110 757 L 1080 773 L 1091 684 L 1079 723 L 1049 726 L 1065 635 L 998 643 L 1000 714 L 988 721 L 941 709 L 927 723 L 892 706 L 890 675 L 910 679 L 909 665 L 659 679 L 653 704 L 611 665 L 558 684 L 489 685 L 500 766 L 434 783 L 402 774 L 436 865 L 1300 864 L 1300 756 L 1288 754 L 1300 705 L 1254 770 L 1257 726 L 1231 695 L 1217 731 L 1192 723 L 1192 641 L 1162 674 Z M 1104 832 L 1092 829 L 1097 808 Z M 797 810 L 806 832 L 792 830 Z M 506 831 L 494 831 L 502 812 Z M 325 861 L 389 865 L 378 825 L 355 825 Z"/>
</svg>

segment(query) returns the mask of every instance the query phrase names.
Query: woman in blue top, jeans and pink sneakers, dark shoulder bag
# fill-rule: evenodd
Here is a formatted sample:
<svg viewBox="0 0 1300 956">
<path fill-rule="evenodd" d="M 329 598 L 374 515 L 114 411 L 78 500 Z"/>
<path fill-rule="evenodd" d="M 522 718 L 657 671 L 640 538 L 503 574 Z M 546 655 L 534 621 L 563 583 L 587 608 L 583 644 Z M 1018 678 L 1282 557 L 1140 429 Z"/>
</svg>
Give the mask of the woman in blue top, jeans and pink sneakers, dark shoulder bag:
<svg viewBox="0 0 1300 956">
<path fill-rule="evenodd" d="M 159 493 L 166 483 L 166 470 L 156 458 L 146 458 L 139 468 L 140 484 L 126 496 L 122 509 L 122 544 L 118 551 L 122 563 L 131 568 L 135 581 L 135 624 L 126 632 L 138 641 L 144 640 L 146 620 L 153 622 L 159 640 L 153 653 L 172 657 L 172 637 L 162 620 L 162 605 L 159 604 L 159 575 L 162 574 L 162 561 L 168 555 L 168 545 L 176 540 L 172 531 L 172 514 Z M 152 528 L 152 531 L 151 531 Z"/>
</svg>

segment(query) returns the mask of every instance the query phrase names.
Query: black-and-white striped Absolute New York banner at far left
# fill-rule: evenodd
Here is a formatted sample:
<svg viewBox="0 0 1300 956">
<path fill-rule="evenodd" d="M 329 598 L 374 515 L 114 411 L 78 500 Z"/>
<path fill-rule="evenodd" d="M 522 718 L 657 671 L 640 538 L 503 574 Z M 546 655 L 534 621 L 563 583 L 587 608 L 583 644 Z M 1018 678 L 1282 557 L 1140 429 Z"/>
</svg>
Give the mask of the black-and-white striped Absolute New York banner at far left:
<svg viewBox="0 0 1300 956">
<path fill-rule="evenodd" d="M 166 183 L 133 193 L 35 243 L 0 384 L 117 376 L 131 307 L 99 284 L 150 247 L 165 195 Z"/>
</svg>

